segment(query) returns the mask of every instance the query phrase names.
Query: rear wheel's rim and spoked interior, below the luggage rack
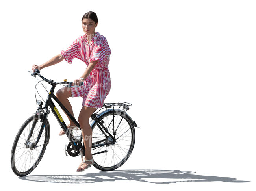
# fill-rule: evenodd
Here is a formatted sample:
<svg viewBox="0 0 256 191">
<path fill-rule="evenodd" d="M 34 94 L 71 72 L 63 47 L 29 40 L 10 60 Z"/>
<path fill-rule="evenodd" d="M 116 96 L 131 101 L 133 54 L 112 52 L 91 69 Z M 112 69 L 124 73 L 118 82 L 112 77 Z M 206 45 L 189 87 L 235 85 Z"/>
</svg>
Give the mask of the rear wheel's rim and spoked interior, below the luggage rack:
<svg viewBox="0 0 256 191">
<path fill-rule="evenodd" d="M 134 145 L 134 129 L 131 128 L 132 124 L 130 121 L 119 113 L 115 113 L 115 115 L 113 115 L 113 113 L 106 113 L 103 121 L 104 126 L 108 129 L 110 134 L 115 137 L 115 139 L 119 138 L 116 140 L 117 142 L 114 145 L 104 145 L 92 148 L 92 154 L 107 151 L 93 155 L 93 159 L 96 165 L 102 168 L 111 169 L 121 166 L 129 158 Z M 105 139 L 105 135 L 96 124 L 97 123 L 93 125 L 92 143 Z M 115 130 L 117 129 L 116 135 L 113 135 L 113 126 L 115 127 Z M 106 143 L 106 141 L 111 141 L 111 137 L 109 136 L 108 139 L 105 139 L 102 143 Z"/>
</svg>

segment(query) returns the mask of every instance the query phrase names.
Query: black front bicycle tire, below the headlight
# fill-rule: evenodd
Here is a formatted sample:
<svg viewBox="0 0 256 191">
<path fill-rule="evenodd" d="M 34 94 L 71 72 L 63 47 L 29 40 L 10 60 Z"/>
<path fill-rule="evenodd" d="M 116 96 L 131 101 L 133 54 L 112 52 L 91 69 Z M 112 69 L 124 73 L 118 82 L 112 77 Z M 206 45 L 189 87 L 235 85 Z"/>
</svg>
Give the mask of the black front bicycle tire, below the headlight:
<svg viewBox="0 0 256 191">
<path fill-rule="evenodd" d="M 16 137 L 15 137 L 15 140 L 14 140 L 14 142 L 13 142 L 13 146 L 12 146 L 12 149 L 11 149 L 11 168 L 12 168 L 12 170 L 13 170 L 13 172 L 17 175 L 17 176 L 26 176 L 26 175 L 28 175 L 28 174 L 30 174 L 34 169 L 35 169 L 35 167 L 37 167 L 37 165 L 39 164 L 39 162 L 41 161 L 41 159 L 42 159 L 42 157 L 43 157 L 43 154 L 45 153 L 45 149 L 46 149 L 46 146 L 48 145 L 48 141 L 49 141 L 49 139 L 50 139 L 50 124 L 49 124 L 49 121 L 48 121 L 48 119 L 46 120 L 46 123 L 45 123 L 45 128 L 44 128 L 44 130 L 43 130 L 43 133 L 42 133 L 42 135 L 41 135 L 41 138 L 40 139 L 42 139 L 42 141 L 44 141 L 44 143 L 43 143 L 43 147 L 42 147 L 42 149 L 41 149 L 41 152 L 40 152 L 40 154 L 39 154 L 39 156 L 38 156 L 38 159 L 37 160 L 35 160 L 35 162 L 33 163 L 33 165 L 32 165 L 32 167 L 30 167 L 28 170 L 26 170 L 26 171 L 24 171 L 24 172 L 21 172 L 20 170 L 18 170 L 17 169 L 17 166 L 16 166 L 16 164 L 15 164 L 15 151 L 16 151 L 16 148 L 17 148 L 17 144 L 18 144 L 18 141 L 19 141 L 19 139 L 20 139 L 20 135 L 22 135 L 22 132 L 25 130 L 25 128 L 28 126 L 28 124 L 30 124 L 30 122 L 32 122 L 33 120 L 35 120 L 35 119 L 37 119 L 37 122 L 39 122 L 39 124 L 41 123 L 40 122 L 40 120 L 41 120 L 41 118 L 43 117 L 43 115 L 42 114 L 35 114 L 35 115 L 32 115 L 31 117 L 29 117 L 23 124 L 22 124 L 22 126 L 21 126 L 21 128 L 19 129 L 19 131 L 18 131 L 18 133 L 17 133 L 17 135 L 16 135 Z M 41 127 L 41 126 L 40 126 Z M 40 128 L 39 128 L 40 129 Z M 35 130 L 35 129 L 34 129 Z M 39 131 L 39 130 L 38 130 Z M 29 132 L 28 130 L 27 130 L 27 132 Z M 44 134 L 44 132 L 45 132 L 45 138 L 43 139 L 42 137 L 43 137 L 43 134 Z M 33 134 L 32 134 L 32 136 L 34 135 L 34 133 L 35 132 L 33 132 Z M 26 139 L 26 135 L 24 134 L 24 138 Z M 32 138 L 32 137 L 31 137 Z M 34 136 L 33 136 L 33 138 L 34 138 Z M 22 138 L 23 139 L 23 138 Z M 24 140 L 25 140 L 24 139 Z M 37 139 L 37 136 L 34 138 L 34 140 L 36 140 Z M 39 142 L 41 142 L 41 141 L 39 141 Z M 19 144 L 21 144 L 21 143 L 19 143 Z M 21 144 L 21 145 L 23 145 L 23 144 Z M 21 147 L 21 146 L 19 146 L 19 147 Z M 22 148 L 26 148 L 26 145 L 24 145 Z M 22 148 L 19 148 L 18 149 L 18 152 L 19 152 L 19 150 L 21 150 Z M 39 148 L 39 147 L 38 147 Z M 26 153 L 30 153 L 30 148 L 26 148 L 25 149 L 26 150 Z M 33 149 L 34 150 L 34 149 Z M 24 152 L 23 152 L 24 153 Z M 23 154 L 22 153 L 22 154 Z M 37 154 L 38 155 L 38 154 Z M 22 156 L 22 155 L 21 155 Z M 20 156 L 20 157 L 21 157 Z M 33 157 L 33 152 L 32 152 L 32 157 Z M 27 162 L 27 161 L 26 161 Z M 25 163 L 25 167 L 26 167 L 26 163 Z"/>
</svg>

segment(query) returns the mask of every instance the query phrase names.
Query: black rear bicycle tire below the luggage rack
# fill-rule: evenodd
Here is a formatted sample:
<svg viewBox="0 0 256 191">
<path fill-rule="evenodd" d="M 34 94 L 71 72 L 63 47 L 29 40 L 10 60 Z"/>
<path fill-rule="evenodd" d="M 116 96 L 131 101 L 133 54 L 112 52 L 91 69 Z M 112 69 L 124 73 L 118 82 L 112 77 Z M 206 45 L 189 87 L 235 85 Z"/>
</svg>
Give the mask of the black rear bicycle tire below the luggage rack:
<svg viewBox="0 0 256 191">
<path fill-rule="evenodd" d="M 135 144 L 135 129 L 134 129 L 134 125 L 133 125 L 133 121 L 132 119 L 130 118 L 130 116 L 126 113 L 126 115 L 124 115 L 124 112 L 121 111 L 121 110 L 114 110 L 113 112 L 113 109 L 109 109 L 109 111 L 107 111 L 106 113 L 104 113 L 101 117 L 102 119 L 105 119 L 105 117 L 109 116 L 109 115 L 119 115 L 121 117 L 123 117 L 129 124 L 130 126 L 130 130 L 131 130 L 131 135 L 132 135 L 132 140 L 131 140 L 131 144 L 130 144 L 130 147 L 129 147 L 129 150 L 127 152 L 127 155 L 117 164 L 113 165 L 113 166 L 109 166 L 109 167 L 105 167 L 105 166 L 102 166 L 100 165 L 99 163 L 97 163 L 97 158 L 94 156 L 94 162 L 95 164 L 93 165 L 95 168 L 101 170 L 101 171 L 113 171 L 117 168 L 119 168 L 120 166 L 122 166 L 126 161 L 127 159 L 130 157 L 131 153 L 132 153 L 132 150 L 134 148 L 134 144 Z M 99 114 L 100 115 L 100 114 Z M 95 129 L 96 125 L 97 125 L 98 122 L 95 122 L 93 125 L 92 125 L 92 131 Z M 111 132 L 110 132 L 111 133 Z M 93 136 L 94 136 L 94 133 L 93 133 Z M 113 134 L 112 134 L 113 136 Z M 117 139 L 118 140 L 118 139 Z M 92 141 L 93 142 L 93 141 Z M 118 141 L 117 141 L 118 142 Z M 117 144 L 117 143 L 115 143 Z M 112 146 L 112 145 L 110 145 Z M 92 154 L 93 154 L 93 150 L 92 150 Z M 99 162 L 99 161 L 98 161 Z"/>
</svg>

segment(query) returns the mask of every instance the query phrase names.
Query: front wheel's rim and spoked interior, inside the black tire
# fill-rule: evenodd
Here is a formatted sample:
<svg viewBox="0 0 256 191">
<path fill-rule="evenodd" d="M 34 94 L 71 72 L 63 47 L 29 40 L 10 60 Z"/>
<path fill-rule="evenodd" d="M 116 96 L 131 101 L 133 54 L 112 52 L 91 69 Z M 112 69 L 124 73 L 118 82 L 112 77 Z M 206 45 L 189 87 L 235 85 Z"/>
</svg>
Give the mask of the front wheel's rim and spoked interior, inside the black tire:
<svg viewBox="0 0 256 191">
<path fill-rule="evenodd" d="M 30 144 L 25 145 L 30 129 L 32 128 L 32 124 L 35 120 L 37 120 L 37 122 L 35 123 L 33 134 L 29 139 Z M 43 129 L 42 135 L 37 143 L 37 146 L 41 146 L 37 148 L 29 148 L 28 145 L 35 144 L 41 125 L 42 122 L 40 122 L 39 117 L 33 117 L 19 134 L 19 139 L 16 143 L 15 151 L 13 152 L 13 165 L 20 174 L 32 170 L 33 167 L 36 167 L 40 162 L 41 155 L 43 154 L 44 148 L 47 144 L 46 127 Z"/>
</svg>

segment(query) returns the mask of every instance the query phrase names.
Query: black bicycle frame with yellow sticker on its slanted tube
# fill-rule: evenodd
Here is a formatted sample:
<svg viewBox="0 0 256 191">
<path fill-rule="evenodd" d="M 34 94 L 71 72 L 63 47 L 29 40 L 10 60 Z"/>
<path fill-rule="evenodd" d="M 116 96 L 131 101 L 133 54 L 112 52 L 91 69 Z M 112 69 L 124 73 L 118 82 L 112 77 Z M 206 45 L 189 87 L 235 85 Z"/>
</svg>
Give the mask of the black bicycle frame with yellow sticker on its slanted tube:
<svg viewBox="0 0 256 191">
<path fill-rule="evenodd" d="M 65 132 L 65 134 L 67 135 L 69 141 L 70 141 L 70 144 L 72 145 L 72 147 L 74 148 L 74 150 L 79 150 L 79 148 L 82 148 L 82 145 L 81 145 L 81 142 L 82 142 L 82 136 L 80 136 L 80 139 L 74 139 L 72 133 L 70 132 L 69 128 L 67 128 L 67 125 L 65 124 L 64 120 L 62 119 L 58 109 L 56 108 L 56 106 L 54 105 L 54 102 L 52 101 L 52 98 L 59 104 L 59 106 L 63 109 L 63 111 L 70 117 L 70 119 L 74 122 L 74 124 L 76 124 L 76 126 L 78 126 L 80 128 L 80 125 L 79 125 L 79 122 L 76 121 L 76 119 L 71 115 L 71 113 L 69 113 L 69 111 L 67 110 L 67 108 L 65 108 L 65 106 L 60 102 L 60 100 L 54 95 L 54 88 L 55 88 L 55 84 L 52 84 L 52 88 L 50 89 L 50 92 L 49 92 L 49 95 L 46 99 L 46 103 L 45 103 L 45 106 L 43 107 L 43 109 L 46 109 L 46 111 L 48 111 L 48 107 L 51 108 L 52 110 L 52 113 L 54 114 L 54 116 L 56 117 L 57 121 L 59 122 L 61 128 L 63 129 L 63 131 Z M 48 112 L 47 112 L 48 113 Z M 46 123 L 46 120 L 47 120 L 47 115 L 45 115 L 46 117 L 44 117 L 43 119 L 43 122 L 42 122 L 42 126 L 41 126 L 41 129 L 39 131 L 39 134 L 38 134 L 38 137 L 37 137 L 37 141 L 35 143 L 35 146 L 37 146 L 37 143 L 41 137 L 41 134 L 43 132 L 43 128 L 45 127 L 45 123 Z M 104 146 L 104 145 L 110 145 L 112 143 L 115 143 L 115 138 L 109 133 L 109 131 L 104 127 L 104 125 L 102 124 L 101 122 L 101 119 L 99 119 L 98 117 L 96 117 L 96 115 L 93 113 L 91 115 L 91 118 L 94 119 L 97 123 L 97 126 L 100 128 L 100 130 L 102 131 L 102 133 L 108 137 L 106 133 L 108 133 L 110 135 L 110 137 L 112 138 L 112 142 L 109 142 L 109 143 L 102 143 L 102 144 L 99 144 L 100 142 L 103 142 L 103 140 L 101 141 L 96 141 L 95 143 L 92 143 L 92 148 L 95 148 L 95 147 L 98 147 L 98 146 Z M 102 130 L 102 128 L 105 130 L 105 132 Z M 81 128 L 80 128 L 81 129 Z M 32 129 L 31 129 L 32 130 Z M 33 130 L 32 130 L 33 131 Z"/>
</svg>

